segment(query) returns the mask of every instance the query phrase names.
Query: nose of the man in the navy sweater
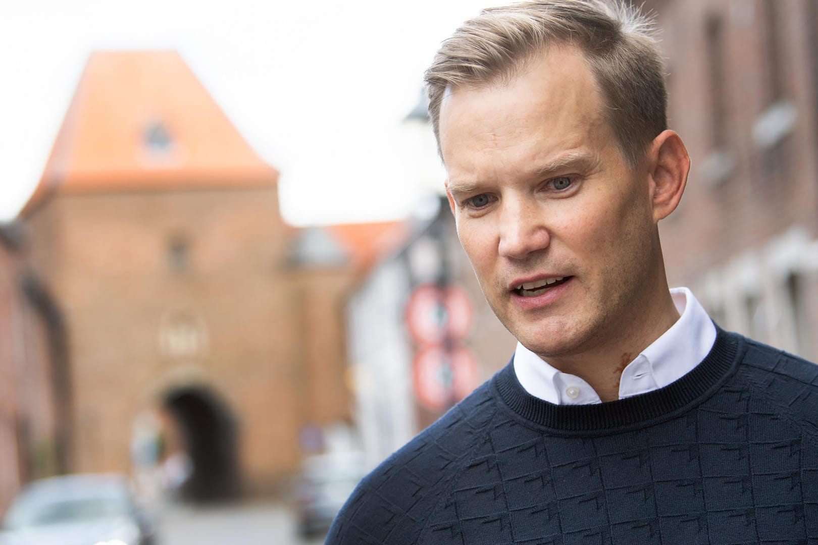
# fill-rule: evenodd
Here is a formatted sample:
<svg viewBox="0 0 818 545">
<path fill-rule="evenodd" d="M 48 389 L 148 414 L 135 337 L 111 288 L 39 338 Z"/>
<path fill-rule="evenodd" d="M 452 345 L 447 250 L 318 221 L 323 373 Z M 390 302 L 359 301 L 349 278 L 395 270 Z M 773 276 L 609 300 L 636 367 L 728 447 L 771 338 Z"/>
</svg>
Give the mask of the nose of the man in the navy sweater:
<svg viewBox="0 0 818 545">
<path fill-rule="evenodd" d="M 507 203 L 500 220 L 500 255 L 525 259 L 532 252 L 548 248 L 551 234 L 542 221 L 536 203 Z"/>
</svg>

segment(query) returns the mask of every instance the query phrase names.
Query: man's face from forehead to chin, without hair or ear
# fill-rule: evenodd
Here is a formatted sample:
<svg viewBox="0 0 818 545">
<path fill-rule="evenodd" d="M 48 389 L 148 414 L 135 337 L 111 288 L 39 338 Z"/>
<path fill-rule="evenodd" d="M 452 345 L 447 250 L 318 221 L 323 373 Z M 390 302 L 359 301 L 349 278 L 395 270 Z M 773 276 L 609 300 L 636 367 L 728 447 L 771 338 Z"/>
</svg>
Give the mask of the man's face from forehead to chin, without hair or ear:
<svg viewBox="0 0 818 545">
<path fill-rule="evenodd" d="M 457 233 L 492 310 L 544 357 L 604 348 L 633 327 L 649 304 L 640 284 L 661 267 L 649 175 L 622 159 L 604 109 L 569 48 L 443 99 Z"/>
</svg>

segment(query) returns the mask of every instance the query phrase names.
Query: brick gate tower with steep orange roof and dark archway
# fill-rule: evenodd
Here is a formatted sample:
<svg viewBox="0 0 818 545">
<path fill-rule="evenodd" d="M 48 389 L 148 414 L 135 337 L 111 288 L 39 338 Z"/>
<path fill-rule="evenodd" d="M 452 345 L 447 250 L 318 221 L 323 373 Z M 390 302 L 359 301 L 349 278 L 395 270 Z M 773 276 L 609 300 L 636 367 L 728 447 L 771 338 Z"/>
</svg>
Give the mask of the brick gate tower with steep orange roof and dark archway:
<svg viewBox="0 0 818 545">
<path fill-rule="evenodd" d="M 298 467 L 305 427 L 349 419 L 344 351 L 326 343 L 353 268 L 305 284 L 277 179 L 175 52 L 90 57 L 21 212 L 65 315 L 72 470 L 182 444 L 191 496 L 267 490 Z M 151 443 L 134 422 L 173 429 Z"/>
</svg>

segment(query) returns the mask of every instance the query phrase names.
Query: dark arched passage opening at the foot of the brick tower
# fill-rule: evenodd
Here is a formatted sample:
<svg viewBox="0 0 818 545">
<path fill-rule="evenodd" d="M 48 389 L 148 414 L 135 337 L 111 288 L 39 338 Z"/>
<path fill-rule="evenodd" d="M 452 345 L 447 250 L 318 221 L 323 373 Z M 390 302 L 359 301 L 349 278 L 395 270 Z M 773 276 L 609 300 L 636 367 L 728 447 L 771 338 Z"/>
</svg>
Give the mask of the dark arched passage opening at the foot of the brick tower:
<svg viewBox="0 0 818 545">
<path fill-rule="evenodd" d="M 182 485 L 182 498 L 194 502 L 218 502 L 239 492 L 236 421 L 213 391 L 186 387 L 164 398 L 178 424 L 191 460 L 192 472 Z"/>
</svg>

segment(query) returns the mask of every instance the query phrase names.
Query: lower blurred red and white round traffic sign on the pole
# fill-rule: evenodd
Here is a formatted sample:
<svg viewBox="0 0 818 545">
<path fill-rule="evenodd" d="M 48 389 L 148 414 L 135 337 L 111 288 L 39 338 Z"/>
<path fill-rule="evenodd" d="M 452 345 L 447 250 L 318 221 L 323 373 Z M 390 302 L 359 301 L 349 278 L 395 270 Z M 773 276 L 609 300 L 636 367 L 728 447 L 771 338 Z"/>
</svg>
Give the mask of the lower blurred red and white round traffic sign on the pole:
<svg viewBox="0 0 818 545">
<path fill-rule="evenodd" d="M 462 346 L 447 353 L 443 346 L 428 346 L 415 356 L 412 366 L 415 395 L 427 408 L 447 409 L 478 385 L 477 360 Z"/>
</svg>

